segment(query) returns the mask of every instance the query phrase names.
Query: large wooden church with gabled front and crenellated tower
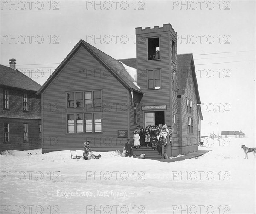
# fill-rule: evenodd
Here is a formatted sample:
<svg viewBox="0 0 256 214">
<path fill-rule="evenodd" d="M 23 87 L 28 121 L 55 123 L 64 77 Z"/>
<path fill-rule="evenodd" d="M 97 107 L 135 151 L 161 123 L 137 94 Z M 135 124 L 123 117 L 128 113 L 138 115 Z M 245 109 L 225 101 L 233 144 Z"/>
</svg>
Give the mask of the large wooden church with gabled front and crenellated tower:
<svg viewBox="0 0 256 214">
<path fill-rule="evenodd" d="M 137 58 L 122 60 L 80 40 L 38 90 L 44 106 L 55 104 L 42 111 L 43 153 L 83 149 L 86 140 L 96 151 L 122 149 L 137 125 L 159 123 L 174 130 L 168 156 L 198 150 L 193 55 L 177 55 L 170 24 L 136 28 L 136 38 Z"/>
</svg>

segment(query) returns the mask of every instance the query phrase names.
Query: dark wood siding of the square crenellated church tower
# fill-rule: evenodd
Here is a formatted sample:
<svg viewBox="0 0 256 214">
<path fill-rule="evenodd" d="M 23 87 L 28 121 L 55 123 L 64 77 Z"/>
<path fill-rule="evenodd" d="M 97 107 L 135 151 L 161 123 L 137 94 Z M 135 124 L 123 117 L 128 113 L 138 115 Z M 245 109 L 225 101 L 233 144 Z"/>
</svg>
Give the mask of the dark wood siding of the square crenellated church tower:
<svg viewBox="0 0 256 214">
<path fill-rule="evenodd" d="M 143 39 L 140 39 L 141 37 Z M 160 38 L 160 60 L 148 61 L 147 40 L 154 37 Z M 172 62 L 172 38 L 169 31 L 137 35 L 137 84 L 144 93 L 140 106 L 166 105 L 165 123 L 167 125 L 173 124 L 172 98 L 177 101 L 177 93 L 172 90 L 172 69 L 177 72 L 177 64 Z M 175 38 L 173 40 L 176 46 L 175 62 L 177 63 L 177 40 Z M 159 90 L 148 89 L 149 69 L 160 69 L 161 88 Z M 144 111 L 140 114 L 140 121 L 145 123 L 143 114 Z"/>
</svg>

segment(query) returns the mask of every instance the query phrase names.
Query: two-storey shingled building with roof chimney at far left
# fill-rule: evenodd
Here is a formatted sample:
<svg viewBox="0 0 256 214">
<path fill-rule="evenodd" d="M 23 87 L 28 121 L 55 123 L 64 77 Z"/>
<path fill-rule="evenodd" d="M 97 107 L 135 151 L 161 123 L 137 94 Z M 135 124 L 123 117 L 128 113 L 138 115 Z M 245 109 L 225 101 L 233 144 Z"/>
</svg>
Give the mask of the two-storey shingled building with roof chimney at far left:
<svg viewBox="0 0 256 214">
<path fill-rule="evenodd" d="M 10 67 L 0 65 L 0 150 L 41 148 L 41 85 L 10 61 Z"/>
</svg>

